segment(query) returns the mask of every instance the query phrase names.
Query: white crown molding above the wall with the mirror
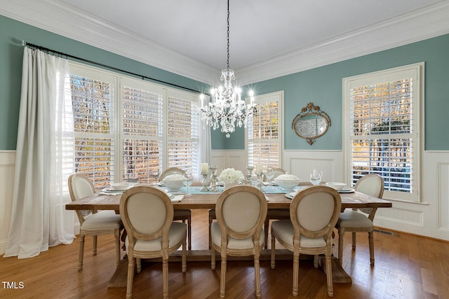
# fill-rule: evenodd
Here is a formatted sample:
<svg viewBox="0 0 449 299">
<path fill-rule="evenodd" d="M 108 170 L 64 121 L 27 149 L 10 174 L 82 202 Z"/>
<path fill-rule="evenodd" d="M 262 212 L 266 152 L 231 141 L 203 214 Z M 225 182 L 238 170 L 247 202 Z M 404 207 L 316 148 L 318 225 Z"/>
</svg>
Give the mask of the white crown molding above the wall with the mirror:
<svg viewBox="0 0 449 299">
<path fill-rule="evenodd" d="M 278 78 L 449 33 L 449 1 L 236 70 L 244 84 Z"/>
</svg>

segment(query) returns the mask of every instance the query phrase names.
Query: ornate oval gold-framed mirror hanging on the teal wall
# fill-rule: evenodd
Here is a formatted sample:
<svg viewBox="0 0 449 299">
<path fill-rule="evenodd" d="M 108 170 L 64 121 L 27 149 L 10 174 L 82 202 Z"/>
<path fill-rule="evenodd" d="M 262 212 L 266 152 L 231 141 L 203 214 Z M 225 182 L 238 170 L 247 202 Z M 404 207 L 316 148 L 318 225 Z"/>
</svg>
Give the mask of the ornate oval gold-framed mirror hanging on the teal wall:
<svg viewBox="0 0 449 299">
<path fill-rule="evenodd" d="M 297 136 L 306 139 L 311 145 L 316 138 L 326 134 L 330 127 L 330 117 L 319 106 L 309 103 L 295 116 L 292 127 Z"/>
</svg>

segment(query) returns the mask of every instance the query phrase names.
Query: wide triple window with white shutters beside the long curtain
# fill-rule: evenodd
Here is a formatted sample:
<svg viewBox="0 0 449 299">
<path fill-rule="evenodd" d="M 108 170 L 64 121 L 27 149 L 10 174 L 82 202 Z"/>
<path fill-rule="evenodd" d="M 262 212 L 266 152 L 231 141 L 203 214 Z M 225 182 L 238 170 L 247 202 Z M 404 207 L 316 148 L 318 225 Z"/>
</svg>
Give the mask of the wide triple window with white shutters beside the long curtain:
<svg viewBox="0 0 449 299">
<path fill-rule="evenodd" d="M 75 171 L 98 188 L 180 167 L 197 172 L 198 95 L 70 65 Z"/>
</svg>

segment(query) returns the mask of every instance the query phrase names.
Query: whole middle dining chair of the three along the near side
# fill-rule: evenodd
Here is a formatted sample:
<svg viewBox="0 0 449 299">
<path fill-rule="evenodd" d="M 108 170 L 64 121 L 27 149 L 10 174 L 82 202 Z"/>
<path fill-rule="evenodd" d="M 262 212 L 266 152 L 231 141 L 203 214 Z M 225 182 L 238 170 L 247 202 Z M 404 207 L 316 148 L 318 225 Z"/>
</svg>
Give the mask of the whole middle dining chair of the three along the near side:
<svg viewBox="0 0 449 299">
<path fill-rule="evenodd" d="M 254 256 L 255 295 L 260 298 L 260 250 L 264 246 L 262 225 L 267 215 L 267 200 L 253 186 L 229 188 L 217 199 L 217 221 L 212 223 L 212 270 L 215 251 L 221 254 L 220 297 L 225 297 L 227 256 Z"/>
</svg>

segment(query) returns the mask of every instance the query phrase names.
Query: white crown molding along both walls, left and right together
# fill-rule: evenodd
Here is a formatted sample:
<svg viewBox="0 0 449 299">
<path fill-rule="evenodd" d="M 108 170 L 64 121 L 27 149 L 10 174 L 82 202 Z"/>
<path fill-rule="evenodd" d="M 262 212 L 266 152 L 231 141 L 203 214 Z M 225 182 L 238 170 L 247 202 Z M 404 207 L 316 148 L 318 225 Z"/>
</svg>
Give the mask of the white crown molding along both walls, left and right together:
<svg viewBox="0 0 449 299">
<path fill-rule="evenodd" d="M 69 39 L 128 57 L 203 83 L 220 69 L 192 60 L 142 36 L 99 22 L 48 0 L 2 0 L 0 14 Z M 361 55 L 422 41 L 449 33 L 449 1 L 402 15 L 335 39 L 235 69 L 242 85 L 322 67 Z M 45 46 L 45 45 L 41 45 Z"/>
</svg>

